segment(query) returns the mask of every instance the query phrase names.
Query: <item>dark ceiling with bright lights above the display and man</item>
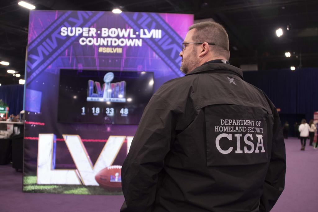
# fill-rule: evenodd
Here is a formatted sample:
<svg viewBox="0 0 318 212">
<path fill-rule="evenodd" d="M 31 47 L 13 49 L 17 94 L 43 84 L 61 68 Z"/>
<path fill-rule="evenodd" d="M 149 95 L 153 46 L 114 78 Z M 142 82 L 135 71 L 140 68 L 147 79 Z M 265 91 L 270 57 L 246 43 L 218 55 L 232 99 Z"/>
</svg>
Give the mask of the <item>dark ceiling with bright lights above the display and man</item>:
<svg viewBox="0 0 318 212">
<path fill-rule="evenodd" d="M 229 34 L 232 65 L 258 64 L 259 70 L 318 67 L 317 0 L 25 0 L 38 10 L 92 10 L 194 14 L 195 20 L 213 18 Z M 14 69 L 24 77 L 29 10 L 18 1 L 2 0 L 0 8 L 0 83 L 17 84 L 8 74 Z M 180 20 L 182 21 L 182 20 Z M 289 30 L 287 30 L 287 26 Z M 277 37 L 276 29 L 283 36 Z M 291 52 L 290 58 L 285 52 Z"/>
</svg>

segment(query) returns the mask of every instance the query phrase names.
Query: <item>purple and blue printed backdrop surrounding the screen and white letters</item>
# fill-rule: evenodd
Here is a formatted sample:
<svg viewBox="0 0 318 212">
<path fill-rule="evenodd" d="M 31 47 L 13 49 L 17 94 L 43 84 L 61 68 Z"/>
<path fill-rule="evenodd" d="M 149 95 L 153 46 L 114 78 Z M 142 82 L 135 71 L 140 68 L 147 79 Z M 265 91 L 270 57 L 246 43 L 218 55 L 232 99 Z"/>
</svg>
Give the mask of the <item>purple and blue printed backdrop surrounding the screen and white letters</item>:
<svg viewBox="0 0 318 212">
<path fill-rule="evenodd" d="M 58 123 L 60 69 L 153 72 L 156 91 L 164 82 L 183 76 L 179 53 L 192 24 L 193 15 L 186 14 L 30 11 L 24 191 L 45 192 L 26 188 L 27 177 L 37 174 L 39 134 L 55 135 L 55 169 L 76 169 L 62 135 L 79 135 L 94 165 L 109 136 L 132 137 L 137 129 L 137 125 Z M 112 165 L 122 164 L 125 148 L 127 139 Z"/>
</svg>

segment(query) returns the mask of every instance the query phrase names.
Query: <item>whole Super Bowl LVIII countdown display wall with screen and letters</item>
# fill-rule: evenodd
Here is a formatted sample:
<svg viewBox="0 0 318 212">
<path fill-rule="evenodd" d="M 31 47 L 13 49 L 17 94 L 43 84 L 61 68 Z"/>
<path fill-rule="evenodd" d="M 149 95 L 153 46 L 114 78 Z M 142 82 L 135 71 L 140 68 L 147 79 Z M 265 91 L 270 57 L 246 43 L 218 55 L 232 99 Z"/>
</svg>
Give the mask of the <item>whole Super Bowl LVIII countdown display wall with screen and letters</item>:
<svg viewBox="0 0 318 212">
<path fill-rule="evenodd" d="M 150 97 L 181 77 L 193 15 L 31 11 L 23 191 L 121 194 Z"/>
</svg>

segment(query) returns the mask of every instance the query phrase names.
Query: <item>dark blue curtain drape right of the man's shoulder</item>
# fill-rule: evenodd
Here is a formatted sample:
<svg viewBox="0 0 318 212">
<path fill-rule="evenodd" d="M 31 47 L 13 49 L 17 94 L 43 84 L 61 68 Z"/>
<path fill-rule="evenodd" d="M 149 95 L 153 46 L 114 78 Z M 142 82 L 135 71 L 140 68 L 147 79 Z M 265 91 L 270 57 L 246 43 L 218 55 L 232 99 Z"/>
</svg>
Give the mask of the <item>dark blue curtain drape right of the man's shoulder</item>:
<svg viewBox="0 0 318 212">
<path fill-rule="evenodd" d="M 246 71 L 243 77 L 262 89 L 282 114 L 305 114 L 308 122 L 318 111 L 318 68 Z"/>
</svg>

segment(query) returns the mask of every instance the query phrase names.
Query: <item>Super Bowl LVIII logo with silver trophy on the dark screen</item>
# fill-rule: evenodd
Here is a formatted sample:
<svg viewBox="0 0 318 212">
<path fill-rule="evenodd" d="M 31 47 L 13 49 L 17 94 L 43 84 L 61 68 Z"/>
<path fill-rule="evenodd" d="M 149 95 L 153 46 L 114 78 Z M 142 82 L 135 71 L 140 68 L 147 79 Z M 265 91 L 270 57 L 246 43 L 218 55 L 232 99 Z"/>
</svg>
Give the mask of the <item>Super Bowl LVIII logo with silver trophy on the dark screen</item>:
<svg viewBox="0 0 318 212">
<path fill-rule="evenodd" d="M 89 80 L 86 100 L 88 102 L 126 102 L 126 81 L 111 83 L 113 79 L 113 72 L 105 74 L 105 83 L 102 87 L 100 87 L 99 82 Z M 96 93 L 94 93 L 94 87 Z"/>
</svg>

